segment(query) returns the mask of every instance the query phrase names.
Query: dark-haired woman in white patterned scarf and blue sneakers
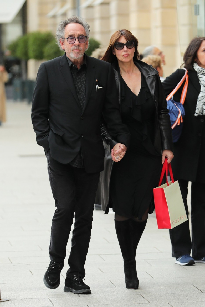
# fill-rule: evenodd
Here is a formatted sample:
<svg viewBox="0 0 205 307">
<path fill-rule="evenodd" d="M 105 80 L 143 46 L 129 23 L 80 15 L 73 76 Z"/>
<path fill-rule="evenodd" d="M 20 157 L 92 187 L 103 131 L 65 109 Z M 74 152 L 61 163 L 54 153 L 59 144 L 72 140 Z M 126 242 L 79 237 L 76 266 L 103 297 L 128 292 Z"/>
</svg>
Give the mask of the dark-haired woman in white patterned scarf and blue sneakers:
<svg viewBox="0 0 205 307">
<path fill-rule="evenodd" d="M 189 222 L 186 221 L 170 230 L 170 239 L 175 263 L 192 265 L 195 262 L 205 263 L 205 37 L 191 40 L 183 61 L 189 81 L 183 104 L 182 133 L 174 143 L 175 158 L 171 166 L 175 180 L 179 181 L 187 216 L 187 187 L 191 181 L 191 236 Z M 183 75 L 184 69 L 177 69 L 164 80 L 162 84 L 166 95 Z M 175 101 L 180 101 L 183 84 L 174 94 Z"/>
</svg>

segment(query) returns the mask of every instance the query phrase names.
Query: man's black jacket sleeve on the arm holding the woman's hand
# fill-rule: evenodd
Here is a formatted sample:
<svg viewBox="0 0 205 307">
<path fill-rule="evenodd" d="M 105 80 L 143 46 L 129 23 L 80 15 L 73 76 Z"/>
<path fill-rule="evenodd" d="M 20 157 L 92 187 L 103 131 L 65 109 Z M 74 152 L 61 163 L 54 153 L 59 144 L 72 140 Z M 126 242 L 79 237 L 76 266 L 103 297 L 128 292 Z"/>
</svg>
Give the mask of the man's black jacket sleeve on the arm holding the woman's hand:
<svg viewBox="0 0 205 307">
<path fill-rule="evenodd" d="M 106 123 L 104 129 L 106 127 L 109 135 L 112 137 L 112 140 L 116 140 L 115 144 L 119 142 L 129 147 L 130 133 L 128 127 L 122 123 L 115 76 L 111 64 L 109 65 L 106 97 L 102 115 L 104 122 Z M 105 130 L 102 131 L 102 133 L 104 133 L 104 138 L 106 138 L 105 132 Z"/>
</svg>

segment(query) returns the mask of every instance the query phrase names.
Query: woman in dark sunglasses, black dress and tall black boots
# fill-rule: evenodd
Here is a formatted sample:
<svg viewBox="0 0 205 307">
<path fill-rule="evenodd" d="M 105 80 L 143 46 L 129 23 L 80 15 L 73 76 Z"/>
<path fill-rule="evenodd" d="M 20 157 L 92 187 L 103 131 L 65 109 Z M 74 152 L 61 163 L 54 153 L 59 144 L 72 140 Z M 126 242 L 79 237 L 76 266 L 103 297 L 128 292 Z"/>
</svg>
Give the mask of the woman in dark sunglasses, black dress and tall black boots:
<svg viewBox="0 0 205 307">
<path fill-rule="evenodd" d="M 151 206 L 153 188 L 158 185 L 165 157 L 168 163 L 173 158 L 164 90 L 158 72 L 139 60 L 137 46 L 137 38 L 131 32 L 119 30 L 112 35 L 102 57 L 102 60 L 112 63 L 122 120 L 131 134 L 130 147 L 123 159 L 120 154 L 114 155 L 112 150 L 112 157 L 120 161 L 113 163 L 110 152 L 116 142 L 102 125 L 106 156 L 100 179 L 102 209 L 105 213 L 109 208 L 115 212 L 125 285 L 129 289 L 138 289 L 139 285 L 136 248 L 148 213 L 154 210 Z"/>
</svg>

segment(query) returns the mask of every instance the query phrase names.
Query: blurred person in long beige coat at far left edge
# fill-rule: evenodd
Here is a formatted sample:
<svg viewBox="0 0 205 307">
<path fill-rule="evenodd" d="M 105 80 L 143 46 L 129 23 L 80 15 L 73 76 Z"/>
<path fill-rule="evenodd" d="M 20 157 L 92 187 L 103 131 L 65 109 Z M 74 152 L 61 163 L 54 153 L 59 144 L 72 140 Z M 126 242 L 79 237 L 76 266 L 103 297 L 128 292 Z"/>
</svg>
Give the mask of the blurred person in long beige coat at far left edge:
<svg viewBox="0 0 205 307">
<path fill-rule="evenodd" d="M 9 80 L 9 74 L 3 65 L 0 65 L 0 125 L 6 122 L 6 93 L 5 82 Z"/>
</svg>

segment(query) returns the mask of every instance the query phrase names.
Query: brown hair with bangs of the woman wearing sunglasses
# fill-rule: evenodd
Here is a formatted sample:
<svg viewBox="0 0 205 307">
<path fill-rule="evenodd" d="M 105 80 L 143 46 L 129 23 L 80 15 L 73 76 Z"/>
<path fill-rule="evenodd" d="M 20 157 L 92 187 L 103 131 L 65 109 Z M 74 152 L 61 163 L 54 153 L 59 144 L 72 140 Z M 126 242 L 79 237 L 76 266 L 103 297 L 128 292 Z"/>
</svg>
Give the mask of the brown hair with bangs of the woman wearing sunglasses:
<svg viewBox="0 0 205 307">
<path fill-rule="evenodd" d="M 139 55 L 139 52 L 137 50 L 137 47 L 138 47 L 137 38 L 134 35 L 132 35 L 132 33 L 130 31 L 123 29 L 123 30 L 118 30 L 118 31 L 116 31 L 115 33 L 112 34 L 108 48 L 105 51 L 105 54 L 102 57 L 102 60 L 109 62 L 111 64 L 116 60 L 116 55 L 114 55 L 112 53 L 112 51 L 114 50 L 115 42 L 118 41 L 121 36 L 124 36 L 124 38 L 127 41 L 134 41 L 135 42 L 135 53 L 134 53 L 133 59 L 136 59 L 136 60 L 140 59 L 140 55 Z"/>
</svg>

